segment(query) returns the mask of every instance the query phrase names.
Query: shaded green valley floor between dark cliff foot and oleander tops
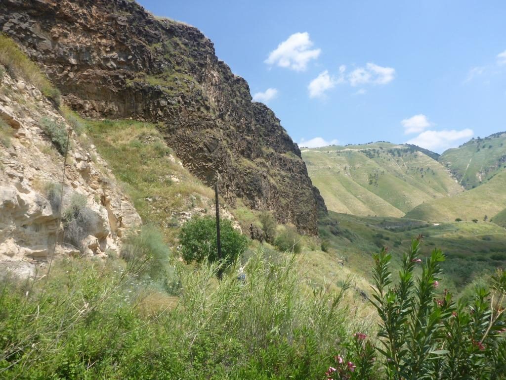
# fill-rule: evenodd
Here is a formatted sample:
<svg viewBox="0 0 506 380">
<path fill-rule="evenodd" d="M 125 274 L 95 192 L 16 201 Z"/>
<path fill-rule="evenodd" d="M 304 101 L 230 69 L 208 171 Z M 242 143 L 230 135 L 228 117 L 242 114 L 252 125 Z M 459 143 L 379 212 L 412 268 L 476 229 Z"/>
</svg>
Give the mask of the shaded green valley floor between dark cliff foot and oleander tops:
<svg viewBox="0 0 506 380">
<path fill-rule="evenodd" d="M 329 252 L 342 258 L 344 268 L 368 279 L 371 254 L 388 246 L 399 264 L 411 239 L 424 236 L 422 252 L 438 247 L 447 260 L 443 264 L 445 287 L 462 286 L 506 264 L 506 230 L 488 222 L 448 222 L 434 225 L 420 220 L 395 217 L 360 217 L 330 212 L 321 220 L 320 236 Z M 368 291 L 366 291 L 368 293 Z"/>
</svg>

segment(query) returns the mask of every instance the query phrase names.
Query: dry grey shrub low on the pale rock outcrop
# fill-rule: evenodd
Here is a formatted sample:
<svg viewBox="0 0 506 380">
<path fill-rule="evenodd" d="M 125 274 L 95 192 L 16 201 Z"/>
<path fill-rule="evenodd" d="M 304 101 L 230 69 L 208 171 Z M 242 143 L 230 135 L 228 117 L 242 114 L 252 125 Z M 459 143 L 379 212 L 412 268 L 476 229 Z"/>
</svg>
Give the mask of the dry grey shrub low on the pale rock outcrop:
<svg viewBox="0 0 506 380">
<path fill-rule="evenodd" d="M 72 244 L 81 252 L 83 247 L 81 241 L 90 235 L 93 226 L 98 222 L 97 214 L 87 205 L 85 196 L 74 193 L 70 198 L 70 205 L 63 212 L 63 241 Z"/>
</svg>

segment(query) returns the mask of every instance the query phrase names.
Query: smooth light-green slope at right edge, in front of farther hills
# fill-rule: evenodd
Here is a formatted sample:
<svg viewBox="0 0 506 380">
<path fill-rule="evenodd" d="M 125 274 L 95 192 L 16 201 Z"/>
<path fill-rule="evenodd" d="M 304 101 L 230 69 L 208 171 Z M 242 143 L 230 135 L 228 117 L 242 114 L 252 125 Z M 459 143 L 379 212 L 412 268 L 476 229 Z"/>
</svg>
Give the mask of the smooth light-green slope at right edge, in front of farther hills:
<svg viewBox="0 0 506 380">
<path fill-rule="evenodd" d="M 451 198 L 437 199 L 415 207 L 407 218 L 428 221 L 483 220 L 506 208 L 506 170 L 490 181 Z"/>
</svg>

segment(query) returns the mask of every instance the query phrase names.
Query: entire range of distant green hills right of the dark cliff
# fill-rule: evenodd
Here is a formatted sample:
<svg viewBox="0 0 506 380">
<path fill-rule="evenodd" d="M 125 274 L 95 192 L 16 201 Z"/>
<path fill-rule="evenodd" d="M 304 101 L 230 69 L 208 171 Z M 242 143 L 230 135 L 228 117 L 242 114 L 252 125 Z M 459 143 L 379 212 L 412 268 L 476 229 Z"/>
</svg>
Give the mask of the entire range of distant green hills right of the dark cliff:
<svg viewBox="0 0 506 380">
<path fill-rule="evenodd" d="M 506 132 L 442 155 L 387 141 L 303 148 L 302 155 L 330 210 L 506 225 Z"/>
</svg>

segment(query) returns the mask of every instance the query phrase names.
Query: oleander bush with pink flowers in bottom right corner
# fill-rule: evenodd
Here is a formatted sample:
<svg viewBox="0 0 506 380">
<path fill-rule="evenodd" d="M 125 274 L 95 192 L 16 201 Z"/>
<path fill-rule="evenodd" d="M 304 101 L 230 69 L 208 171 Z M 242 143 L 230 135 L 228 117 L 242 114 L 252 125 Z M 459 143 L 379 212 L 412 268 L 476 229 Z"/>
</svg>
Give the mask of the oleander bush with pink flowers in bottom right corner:
<svg viewBox="0 0 506 380">
<path fill-rule="evenodd" d="M 414 240 L 395 284 L 388 250 L 374 255 L 378 341 L 357 335 L 356 345 L 334 358 L 328 379 L 506 378 L 506 272 L 497 270 L 488 289 L 477 285 L 468 301 L 455 301 L 441 290 L 442 252 L 433 250 L 424 262 L 419 248 Z"/>
</svg>

